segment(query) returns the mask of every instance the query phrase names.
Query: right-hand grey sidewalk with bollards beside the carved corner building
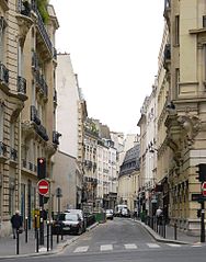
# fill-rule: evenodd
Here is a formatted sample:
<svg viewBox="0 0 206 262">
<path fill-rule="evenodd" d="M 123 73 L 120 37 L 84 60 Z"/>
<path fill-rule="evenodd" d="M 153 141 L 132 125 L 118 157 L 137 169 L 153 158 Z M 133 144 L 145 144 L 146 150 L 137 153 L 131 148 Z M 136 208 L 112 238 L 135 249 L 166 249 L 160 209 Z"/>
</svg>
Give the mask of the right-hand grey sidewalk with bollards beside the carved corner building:
<svg viewBox="0 0 206 262">
<path fill-rule="evenodd" d="M 140 220 L 135 220 L 139 225 L 141 225 L 148 232 L 160 242 L 171 242 L 171 243 L 182 243 L 182 244 L 196 244 L 201 242 L 201 237 L 188 236 L 186 232 L 176 229 L 176 239 L 174 239 L 174 227 L 167 225 L 165 226 L 165 238 L 161 237 L 158 232 L 147 226 L 145 223 Z"/>
</svg>

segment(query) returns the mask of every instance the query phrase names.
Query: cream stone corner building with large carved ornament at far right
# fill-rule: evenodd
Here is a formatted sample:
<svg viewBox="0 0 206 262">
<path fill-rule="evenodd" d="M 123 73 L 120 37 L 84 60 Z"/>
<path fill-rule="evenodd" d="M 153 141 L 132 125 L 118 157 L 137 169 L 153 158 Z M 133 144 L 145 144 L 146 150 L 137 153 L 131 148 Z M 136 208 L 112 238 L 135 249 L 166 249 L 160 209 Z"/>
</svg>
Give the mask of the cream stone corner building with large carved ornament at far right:
<svg viewBox="0 0 206 262">
<path fill-rule="evenodd" d="M 168 0 L 164 18 L 169 29 L 165 70 L 172 102 L 164 122 L 173 156 L 168 174 L 170 212 L 180 227 L 198 233 L 199 204 L 192 201 L 192 195 L 201 193 L 196 164 L 206 162 L 206 2 Z"/>
</svg>

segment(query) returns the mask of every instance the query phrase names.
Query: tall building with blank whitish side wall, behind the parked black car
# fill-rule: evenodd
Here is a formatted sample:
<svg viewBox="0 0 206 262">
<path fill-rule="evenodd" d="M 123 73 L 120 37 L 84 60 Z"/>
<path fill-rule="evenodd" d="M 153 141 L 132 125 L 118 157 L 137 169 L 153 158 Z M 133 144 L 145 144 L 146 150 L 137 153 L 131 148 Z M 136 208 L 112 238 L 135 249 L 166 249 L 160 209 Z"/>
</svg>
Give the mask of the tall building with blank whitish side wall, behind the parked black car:
<svg viewBox="0 0 206 262">
<path fill-rule="evenodd" d="M 54 210 L 58 209 L 58 189 L 61 190 L 61 210 L 80 208 L 83 182 L 83 134 L 87 105 L 79 88 L 70 54 L 57 55 L 57 128 L 61 134 L 59 150 L 54 157 L 52 194 Z"/>
</svg>

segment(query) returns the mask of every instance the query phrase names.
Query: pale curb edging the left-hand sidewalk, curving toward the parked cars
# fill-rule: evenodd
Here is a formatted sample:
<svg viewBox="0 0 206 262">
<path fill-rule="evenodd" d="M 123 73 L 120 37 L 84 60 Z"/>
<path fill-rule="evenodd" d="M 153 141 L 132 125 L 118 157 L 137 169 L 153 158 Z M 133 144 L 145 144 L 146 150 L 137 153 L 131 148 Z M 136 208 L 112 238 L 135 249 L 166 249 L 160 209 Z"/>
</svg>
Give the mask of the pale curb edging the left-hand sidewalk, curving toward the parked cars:
<svg viewBox="0 0 206 262">
<path fill-rule="evenodd" d="M 87 231 L 92 230 L 93 228 L 95 228 L 99 225 L 99 223 L 94 223 L 93 225 L 91 225 L 90 227 L 87 228 Z M 44 252 L 38 252 L 38 253 L 26 253 L 26 254 L 9 254 L 9 255 L 2 255 L 0 257 L 0 260 L 5 260 L 5 259 L 16 259 L 16 258 L 27 258 L 27 257 L 39 257 L 39 255 L 52 255 L 52 254 L 57 254 L 60 253 L 66 247 L 68 247 L 69 244 L 71 244 L 72 242 L 77 241 L 80 237 L 73 237 L 72 239 L 68 239 L 66 242 L 64 243 L 59 243 L 57 244 L 57 247 L 54 250 L 50 251 L 44 251 Z"/>
</svg>

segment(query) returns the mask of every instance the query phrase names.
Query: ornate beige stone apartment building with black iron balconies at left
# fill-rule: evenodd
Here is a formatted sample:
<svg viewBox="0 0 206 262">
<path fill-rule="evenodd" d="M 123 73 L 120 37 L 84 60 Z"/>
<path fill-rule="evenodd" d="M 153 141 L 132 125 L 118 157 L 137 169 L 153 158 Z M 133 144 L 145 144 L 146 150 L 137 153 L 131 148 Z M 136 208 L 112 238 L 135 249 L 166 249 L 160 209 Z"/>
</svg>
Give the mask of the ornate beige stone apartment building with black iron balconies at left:
<svg viewBox="0 0 206 262">
<path fill-rule="evenodd" d="M 58 145 L 55 125 L 55 31 L 58 21 L 45 7 L 47 23 L 37 2 L 0 2 L 0 235 L 8 235 L 10 216 L 20 209 L 32 223 L 38 205 L 36 163 L 47 162 Z"/>
</svg>

